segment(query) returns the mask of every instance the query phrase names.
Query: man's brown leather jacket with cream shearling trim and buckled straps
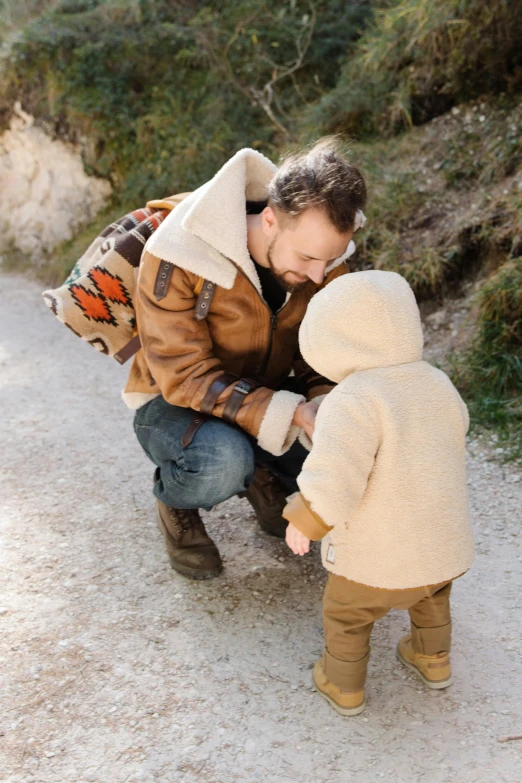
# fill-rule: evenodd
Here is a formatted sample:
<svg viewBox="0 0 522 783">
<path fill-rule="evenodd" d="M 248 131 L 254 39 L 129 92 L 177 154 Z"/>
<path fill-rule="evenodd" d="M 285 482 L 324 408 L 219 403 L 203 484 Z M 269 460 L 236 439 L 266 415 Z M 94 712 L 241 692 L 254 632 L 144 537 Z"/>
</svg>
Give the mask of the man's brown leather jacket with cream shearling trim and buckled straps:
<svg viewBox="0 0 522 783">
<path fill-rule="evenodd" d="M 227 185 L 229 180 L 230 176 Z M 243 214 L 235 215 L 236 222 L 243 224 L 244 192 L 243 185 Z M 219 195 L 216 193 L 216 198 Z M 190 200 L 193 206 L 189 209 Z M 205 229 L 215 220 L 212 208 L 207 204 L 201 209 L 200 201 L 196 191 L 177 206 L 157 232 L 170 220 L 170 234 L 167 226 L 160 241 L 149 241 L 150 250 L 148 244 L 144 251 L 135 295 L 142 350 L 134 359 L 123 396 L 130 407 L 136 408 L 151 395 L 161 394 L 172 405 L 235 422 L 255 436 L 263 448 L 280 454 L 298 434 L 291 421 L 299 402 L 324 394 L 333 385 L 311 370 L 299 354 L 299 326 L 319 286 L 310 281 L 303 291 L 287 296 L 286 303 L 273 315 L 262 298 L 246 246 L 237 261 L 232 258 L 233 228 L 223 240 L 229 241 L 228 235 L 232 235 L 227 256 L 223 243 L 216 240 L 219 256 L 210 248 L 201 263 L 198 254 L 191 261 L 194 236 L 185 237 L 183 232 L 189 227 L 193 234 L 201 234 L 198 220 L 204 218 Z M 217 234 L 220 227 L 222 230 L 221 221 L 215 224 Z M 184 244 L 174 257 L 165 260 L 180 234 Z M 198 252 L 200 247 L 201 242 L 196 246 Z M 339 264 L 326 282 L 347 271 L 346 264 Z M 210 286 L 206 299 L 207 288 L 200 290 L 203 279 L 204 285 Z M 292 370 L 299 393 L 280 391 Z"/>
</svg>

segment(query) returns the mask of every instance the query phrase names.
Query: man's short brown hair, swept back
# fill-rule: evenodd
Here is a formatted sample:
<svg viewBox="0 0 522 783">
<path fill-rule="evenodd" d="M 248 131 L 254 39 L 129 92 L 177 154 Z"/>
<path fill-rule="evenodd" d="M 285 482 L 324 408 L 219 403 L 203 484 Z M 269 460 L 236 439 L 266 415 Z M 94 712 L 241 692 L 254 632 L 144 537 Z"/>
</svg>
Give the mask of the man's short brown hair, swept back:
<svg viewBox="0 0 522 783">
<path fill-rule="evenodd" d="M 344 234 L 353 231 L 355 214 L 366 203 L 366 184 L 348 162 L 339 138 L 327 136 L 283 160 L 268 196 L 269 206 L 283 217 L 297 217 L 314 207 Z"/>
</svg>

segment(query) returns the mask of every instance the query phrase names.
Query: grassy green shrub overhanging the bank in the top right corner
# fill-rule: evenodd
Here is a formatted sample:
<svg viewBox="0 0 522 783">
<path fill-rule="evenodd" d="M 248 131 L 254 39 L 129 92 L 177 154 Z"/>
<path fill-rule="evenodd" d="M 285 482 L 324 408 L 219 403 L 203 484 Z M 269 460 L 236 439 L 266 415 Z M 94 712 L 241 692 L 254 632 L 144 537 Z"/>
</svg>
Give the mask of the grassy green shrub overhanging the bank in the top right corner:
<svg viewBox="0 0 522 783">
<path fill-rule="evenodd" d="M 339 82 L 305 127 L 393 133 L 522 84 L 522 4 L 394 0 L 351 47 Z"/>
</svg>

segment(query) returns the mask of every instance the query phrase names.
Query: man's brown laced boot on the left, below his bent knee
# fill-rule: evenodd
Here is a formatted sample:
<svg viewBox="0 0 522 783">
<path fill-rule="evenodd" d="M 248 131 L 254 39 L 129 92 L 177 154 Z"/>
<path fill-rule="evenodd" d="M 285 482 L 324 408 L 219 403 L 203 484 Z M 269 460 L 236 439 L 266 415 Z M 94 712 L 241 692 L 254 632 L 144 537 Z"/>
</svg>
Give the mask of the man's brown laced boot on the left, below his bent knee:
<svg viewBox="0 0 522 783">
<path fill-rule="evenodd" d="M 218 548 L 195 508 L 171 508 L 156 500 L 158 527 L 172 568 L 189 579 L 211 579 L 223 570 Z"/>
</svg>

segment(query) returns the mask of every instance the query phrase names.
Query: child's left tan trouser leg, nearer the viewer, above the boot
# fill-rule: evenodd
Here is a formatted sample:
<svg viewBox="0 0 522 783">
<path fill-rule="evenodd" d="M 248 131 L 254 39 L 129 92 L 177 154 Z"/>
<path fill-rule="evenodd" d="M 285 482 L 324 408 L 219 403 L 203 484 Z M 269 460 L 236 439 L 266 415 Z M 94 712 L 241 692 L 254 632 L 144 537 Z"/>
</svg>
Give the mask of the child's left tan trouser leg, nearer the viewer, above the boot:
<svg viewBox="0 0 522 783">
<path fill-rule="evenodd" d="M 323 597 L 323 666 L 327 679 L 342 691 L 364 688 L 373 624 L 389 610 L 379 594 L 382 591 L 342 576 L 328 576 Z"/>
</svg>

